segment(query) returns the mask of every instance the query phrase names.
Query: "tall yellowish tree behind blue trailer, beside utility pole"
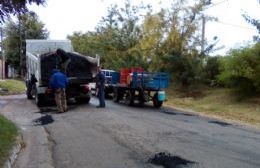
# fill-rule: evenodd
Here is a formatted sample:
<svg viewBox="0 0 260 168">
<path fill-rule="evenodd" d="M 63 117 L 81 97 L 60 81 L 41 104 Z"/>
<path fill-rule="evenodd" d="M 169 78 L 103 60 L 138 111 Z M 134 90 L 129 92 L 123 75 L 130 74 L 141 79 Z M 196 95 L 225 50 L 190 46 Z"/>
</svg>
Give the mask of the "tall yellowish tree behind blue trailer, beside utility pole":
<svg viewBox="0 0 260 168">
<path fill-rule="evenodd" d="M 159 50 L 151 66 L 154 70 L 172 73 L 172 79 L 183 86 L 202 81 L 205 55 L 198 51 L 201 44 L 200 23 L 208 1 L 197 1 L 185 6 L 187 1 L 176 0 L 170 10 L 163 10 L 163 33 Z M 160 65 L 160 66 L 158 66 Z"/>
</svg>

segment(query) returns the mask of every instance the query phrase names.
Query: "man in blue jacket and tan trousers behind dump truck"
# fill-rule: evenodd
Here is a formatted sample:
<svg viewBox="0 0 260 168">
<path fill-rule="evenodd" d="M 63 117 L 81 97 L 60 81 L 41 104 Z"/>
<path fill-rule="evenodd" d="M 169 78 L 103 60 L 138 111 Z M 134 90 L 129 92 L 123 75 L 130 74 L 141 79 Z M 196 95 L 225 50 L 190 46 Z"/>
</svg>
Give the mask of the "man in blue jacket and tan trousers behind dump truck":
<svg viewBox="0 0 260 168">
<path fill-rule="evenodd" d="M 64 73 L 57 69 L 54 69 L 52 73 L 50 86 L 55 93 L 55 101 L 58 111 L 63 113 L 67 111 L 66 87 L 68 85 L 68 79 Z"/>
</svg>

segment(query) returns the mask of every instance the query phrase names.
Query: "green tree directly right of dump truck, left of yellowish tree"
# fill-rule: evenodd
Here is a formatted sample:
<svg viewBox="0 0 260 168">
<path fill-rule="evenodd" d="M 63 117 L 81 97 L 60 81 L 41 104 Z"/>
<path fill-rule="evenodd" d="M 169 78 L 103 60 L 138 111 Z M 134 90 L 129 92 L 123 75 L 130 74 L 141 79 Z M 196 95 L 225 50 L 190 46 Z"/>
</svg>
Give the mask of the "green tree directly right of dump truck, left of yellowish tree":
<svg viewBox="0 0 260 168">
<path fill-rule="evenodd" d="M 129 0 L 122 8 L 112 5 L 96 31 L 74 33 L 69 39 L 76 51 L 88 55 L 99 54 L 106 68 L 118 70 L 122 67 L 145 66 L 146 60 L 139 46 L 142 35 L 138 24 L 141 18 L 139 12 L 145 8 L 133 6 Z"/>
</svg>

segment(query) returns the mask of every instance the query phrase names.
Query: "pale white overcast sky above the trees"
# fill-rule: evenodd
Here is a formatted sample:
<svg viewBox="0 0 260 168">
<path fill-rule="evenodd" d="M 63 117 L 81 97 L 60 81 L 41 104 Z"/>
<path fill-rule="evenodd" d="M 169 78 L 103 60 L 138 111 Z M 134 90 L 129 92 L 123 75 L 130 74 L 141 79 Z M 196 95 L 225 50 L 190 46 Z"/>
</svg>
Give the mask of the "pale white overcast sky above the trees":
<svg viewBox="0 0 260 168">
<path fill-rule="evenodd" d="M 131 0 L 139 4 L 140 0 Z M 143 0 L 153 8 L 167 8 L 172 0 Z M 124 0 L 47 0 L 46 5 L 30 5 L 50 32 L 50 39 L 63 40 L 75 31 L 93 31 L 106 16 L 111 4 L 123 5 Z M 218 37 L 217 47 L 222 48 L 214 54 L 225 54 L 231 48 L 245 46 L 257 35 L 256 28 L 245 21 L 243 13 L 260 19 L 258 0 L 212 0 L 212 5 L 204 11 L 205 15 L 217 17 L 218 21 L 207 21 L 205 37 L 210 42 Z"/>
</svg>

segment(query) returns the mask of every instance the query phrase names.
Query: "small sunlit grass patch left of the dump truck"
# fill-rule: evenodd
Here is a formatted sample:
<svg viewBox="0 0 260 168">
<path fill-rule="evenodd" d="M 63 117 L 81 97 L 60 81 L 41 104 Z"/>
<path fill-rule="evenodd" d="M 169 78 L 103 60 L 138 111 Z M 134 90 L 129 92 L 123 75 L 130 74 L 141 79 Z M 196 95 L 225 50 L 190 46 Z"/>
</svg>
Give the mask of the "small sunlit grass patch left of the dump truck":
<svg viewBox="0 0 260 168">
<path fill-rule="evenodd" d="M 23 81 L 13 79 L 0 80 L 0 88 L 8 90 L 8 92 L 0 93 L 0 95 L 24 93 L 26 89 Z"/>
</svg>

